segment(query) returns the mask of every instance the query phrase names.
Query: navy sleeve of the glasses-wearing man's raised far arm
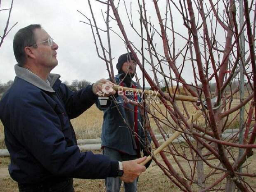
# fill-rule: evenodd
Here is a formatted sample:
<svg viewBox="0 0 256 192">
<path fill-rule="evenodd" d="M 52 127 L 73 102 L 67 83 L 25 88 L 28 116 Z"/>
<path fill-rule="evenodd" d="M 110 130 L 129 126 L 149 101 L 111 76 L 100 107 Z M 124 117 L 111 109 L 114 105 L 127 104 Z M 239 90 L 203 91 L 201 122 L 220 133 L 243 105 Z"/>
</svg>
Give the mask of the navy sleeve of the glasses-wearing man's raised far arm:
<svg viewBox="0 0 256 192">
<path fill-rule="evenodd" d="M 98 98 L 97 95 L 92 92 L 92 85 L 88 85 L 81 90 L 73 92 L 62 83 L 59 87 L 59 92 L 70 119 L 81 115 L 85 110 L 89 109 Z"/>
</svg>

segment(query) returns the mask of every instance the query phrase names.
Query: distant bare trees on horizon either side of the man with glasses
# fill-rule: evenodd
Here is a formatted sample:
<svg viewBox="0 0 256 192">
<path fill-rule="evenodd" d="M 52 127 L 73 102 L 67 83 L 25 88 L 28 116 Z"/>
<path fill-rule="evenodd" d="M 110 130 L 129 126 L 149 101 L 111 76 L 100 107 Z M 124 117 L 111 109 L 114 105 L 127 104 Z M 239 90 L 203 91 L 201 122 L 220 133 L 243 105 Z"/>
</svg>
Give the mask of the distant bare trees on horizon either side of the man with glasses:
<svg viewBox="0 0 256 192">
<path fill-rule="evenodd" d="M 0 82 L 0 97 L 3 95 L 4 92 L 6 92 L 9 89 L 12 83 L 12 80 L 8 81 L 7 83 Z M 66 84 L 68 88 L 72 91 L 80 90 L 82 88 L 85 88 L 87 85 L 91 84 L 89 81 L 86 81 L 85 79 L 80 81 L 77 79 L 73 80 L 71 84 L 68 81 L 63 81 L 62 83 Z"/>
</svg>

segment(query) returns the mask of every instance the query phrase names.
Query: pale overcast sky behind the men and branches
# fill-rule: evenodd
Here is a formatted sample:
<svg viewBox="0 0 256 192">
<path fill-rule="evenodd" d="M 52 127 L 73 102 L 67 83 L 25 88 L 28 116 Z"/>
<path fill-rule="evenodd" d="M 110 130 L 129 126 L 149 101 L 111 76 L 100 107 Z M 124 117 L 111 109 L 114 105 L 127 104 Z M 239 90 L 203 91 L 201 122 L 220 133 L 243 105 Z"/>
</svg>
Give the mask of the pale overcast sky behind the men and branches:
<svg viewBox="0 0 256 192">
<path fill-rule="evenodd" d="M 130 0 L 126 0 L 125 2 L 128 9 L 130 9 Z M 138 14 L 139 8 L 137 5 L 137 0 L 133 0 L 132 2 L 133 23 L 135 28 L 140 31 Z M 152 24 L 159 29 L 153 2 L 151 0 L 146 0 L 145 2 L 148 18 L 151 16 Z M 9 8 L 10 3 L 11 0 L 2 0 L 0 9 Z M 106 29 L 102 19 L 101 9 L 106 11 L 107 6 L 99 2 L 95 2 L 94 0 L 91 0 L 91 4 L 98 26 L 102 29 Z M 123 4 L 123 0 L 121 0 L 119 14 L 126 29 L 126 33 L 128 34 L 129 40 L 132 41 L 138 49 L 140 49 L 141 40 L 137 37 L 136 33 L 129 25 Z M 165 10 L 165 3 L 159 3 L 159 7 L 160 9 Z M 8 36 L 5 38 L 4 43 L 0 47 L 0 83 L 6 83 L 9 80 L 13 80 L 15 77 L 14 64 L 16 64 L 16 60 L 13 55 L 12 40 L 14 34 L 20 28 L 28 26 L 29 24 L 41 24 L 42 27 L 54 39 L 54 41 L 59 45 L 59 49 L 57 50 L 57 59 L 59 64 L 57 67 L 55 67 L 55 69 L 52 70 L 52 73 L 59 73 L 62 81 L 69 81 L 69 83 L 71 83 L 74 79 L 85 79 L 93 83 L 100 78 L 108 78 L 106 64 L 97 56 L 90 26 L 80 22 L 80 20 L 86 22 L 88 22 L 88 20 L 83 17 L 83 15 L 78 13 L 77 10 L 83 12 L 83 14 L 91 18 L 87 0 L 76 0 L 72 1 L 72 3 L 70 0 L 14 0 L 9 27 L 16 22 L 18 22 L 18 24 L 14 26 L 12 31 L 10 31 Z M 182 17 L 173 7 L 172 11 L 175 31 L 178 31 L 178 33 L 181 35 L 187 37 L 187 29 L 183 25 Z M 128 10 L 128 12 L 130 13 L 130 10 Z M 2 35 L 3 28 L 5 27 L 8 16 L 7 14 L 8 11 L 0 12 L 0 35 Z M 113 16 L 112 12 L 111 15 Z M 163 12 L 162 17 L 164 18 Z M 116 21 L 111 20 L 110 26 L 114 31 L 121 34 L 119 28 L 117 27 Z M 107 48 L 107 34 L 103 32 L 100 33 L 104 46 Z M 169 36 L 169 38 L 171 38 L 171 33 Z M 225 43 L 225 36 L 223 35 L 222 31 L 218 31 L 218 28 L 216 38 L 218 38 L 219 42 Z M 185 46 L 186 41 L 183 38 L 180 38 L 178 35 L 175 36 L 175 39 L 177 52 L 178 49 L 182 49 Z M 154 36 L 154 43 L 156 43 L 158 53 L 163 54 L 162 41 L 157 34 Z M 144 46 L 145 45 L 146 43 Z M 100 48 L 100 45 L 98 46 Z M 121 54 L 126 52 L 126 47 L 123 41 L 112 32 L 111 51 L 112 57 L 115 58 L 113 60 L 113 64 L 114 73 L 116 74 L 117 59 Z M 147 55 L 147 51 L 145 52 Z M 177 60 L 177 66 L 180 64 L 182 64 L 182 59 Z M 145 64 L 145 68 L 147 71 L 149 71 L 149 75 L 153 78 L 149 64 Z M 166 70 L 166 74 L 168 74 L 167 66 L 164 68 L 164 70 Z M 139 78 L 141 78 L 142 73 L 138 69 L 138 66 L 137 73 Z M 190 61 L 185 62 L 185 68 L 182 75 L 188 83 L 193 81 L 192 66 Z"/>
</svg>

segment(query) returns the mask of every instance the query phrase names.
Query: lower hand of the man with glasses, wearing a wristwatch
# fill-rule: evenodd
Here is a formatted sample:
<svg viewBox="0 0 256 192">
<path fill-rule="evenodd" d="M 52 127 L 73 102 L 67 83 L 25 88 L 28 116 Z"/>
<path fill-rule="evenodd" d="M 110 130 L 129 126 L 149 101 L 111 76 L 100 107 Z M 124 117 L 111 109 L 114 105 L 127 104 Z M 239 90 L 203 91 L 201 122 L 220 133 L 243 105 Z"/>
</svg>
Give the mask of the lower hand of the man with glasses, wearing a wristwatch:
<svg viewBox="0 0 256 192">
<path fill-rule="evenodd" d="M 140 165 L 147 157 L 135 159 L 132 161 L 123 161 L 123 176 L 120 177 L 126 183 L 133 182 L 142 172 L 146 171 L 146 167 Z"/>
</svg>

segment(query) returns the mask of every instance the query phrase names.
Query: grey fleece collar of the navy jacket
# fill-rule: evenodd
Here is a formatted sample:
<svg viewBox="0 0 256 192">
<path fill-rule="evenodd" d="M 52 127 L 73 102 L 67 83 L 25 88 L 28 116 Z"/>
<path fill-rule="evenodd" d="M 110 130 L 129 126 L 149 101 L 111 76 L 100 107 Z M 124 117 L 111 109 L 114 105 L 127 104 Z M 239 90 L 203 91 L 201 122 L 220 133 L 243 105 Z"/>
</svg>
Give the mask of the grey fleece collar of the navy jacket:
<svg viewBox="0 0 256 192">
<path fill-rule="evenodd" d="M 50 85 L 48 85 L 45 81 L 43 81 L 43 79 L 38 77 L 36 74 L 32 73 L 31 71 L 29 71 L 24 67 L 19 66 L 18 64 L 14 66 L 14 70 L 17 77 L 48 92 L 55 92 L 55 90 L 52 89 L 52 86 L 57 81 L 57 79 L 60 78 L 59 74 L 50 73 L 47 78 L 47 80 L 50 83 Z"/>
</svg>

